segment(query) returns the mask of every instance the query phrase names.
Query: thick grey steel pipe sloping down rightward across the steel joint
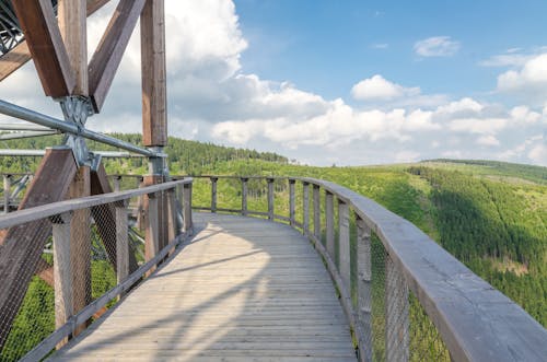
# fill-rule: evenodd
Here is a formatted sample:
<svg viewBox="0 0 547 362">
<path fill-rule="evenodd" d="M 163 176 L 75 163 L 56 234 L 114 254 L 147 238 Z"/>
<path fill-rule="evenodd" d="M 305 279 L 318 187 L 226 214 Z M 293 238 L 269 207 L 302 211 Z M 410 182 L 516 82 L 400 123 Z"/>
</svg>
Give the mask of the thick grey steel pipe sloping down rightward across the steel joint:
<svg viewBox="0 0 547 362">
<path fill-rule="evenodd" d="M 118 140 L 116 138 L 102 135 L 98 132 L 91 131 L 85 128 L 78 127 L 75 124 L 66 122 L 63 120 L 43 115 L 40 113 L 20 107 L 12 103 L 0 100 L 0 113 L 14 118 L 23 119 L 45 126 L 48 128 L 57 129 L 66 133 L 71 133 L 74 136 L 80 136 L 89 140 L 97 141 L 108 145 L 116 147 L 126 151 L 139 153 L 149 157 L 166 157 L 165 153 L 154 152 L 152 150 L 147 150 L 138 145 L 131 144 L 126 141 Z"/>
</svg>

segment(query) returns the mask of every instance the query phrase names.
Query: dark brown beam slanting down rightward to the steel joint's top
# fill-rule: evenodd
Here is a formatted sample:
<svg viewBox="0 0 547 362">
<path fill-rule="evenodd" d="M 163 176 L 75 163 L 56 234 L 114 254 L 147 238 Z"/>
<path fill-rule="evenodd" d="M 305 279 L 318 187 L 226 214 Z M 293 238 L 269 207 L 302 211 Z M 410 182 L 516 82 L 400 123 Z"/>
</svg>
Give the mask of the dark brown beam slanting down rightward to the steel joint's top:
<svg viewBox="0 0 547 362">
<path fill-rule="evenodd" d="M 12 0 L 34 65 L 48 96 L 70 95 L 74 74 L 50 0 Z"/>
</svg>

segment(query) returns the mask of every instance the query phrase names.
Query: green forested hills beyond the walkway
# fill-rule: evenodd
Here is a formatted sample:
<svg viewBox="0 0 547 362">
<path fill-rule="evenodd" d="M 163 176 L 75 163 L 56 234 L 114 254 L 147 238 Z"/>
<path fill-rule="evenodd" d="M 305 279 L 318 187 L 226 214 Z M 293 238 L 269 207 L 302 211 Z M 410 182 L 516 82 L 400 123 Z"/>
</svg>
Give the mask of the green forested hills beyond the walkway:
<svg viewBox="0 0 547 362">
<path fill-rule="evenodd" d="M 114 136 L 140 143 L 138 135 Z M 61 137 L 56 136 L 4 142 L 2 147 L 44 149 L 60 143 Z M 93 142 L 90 149 L 109 150 Z M 276 153 L 177 138 L 170 138 L 166 153 L 172 175 L 309 176 L 335 182 L 370 197 L 415 223 L 547 327 L 547 167 L 455 160 L 313 167 L 290 164 Z M 33 172 L 38 162 L 39 157 L 0 157 L 0 170 Z M 108 159 L 105 166 L 108 174 L 147 172 L 144 159 Z M 209 185 L 208 178 L 196 178 L 196 206 L 210 205 Z M 220 179 L 218 187 L 219 208 L 241 207 L 236 180 Z M 261 196 L 266 185 L 249 182 L 249 209 L 265 211 Z M 287 211 L 287 206 L 277 201 L 287 200 L 287 192 L 286 185 L 276 184 L 276 212 Z M 301 214 L 296 213 L 296 218 Z M 47 285 L 37 278 L 33 283 L 36 293 L 47 293 Z M 414 318 L 419 323 L 424 319 Z M 50 320 L 33 323 L 50 324 Z"/>
</svg>

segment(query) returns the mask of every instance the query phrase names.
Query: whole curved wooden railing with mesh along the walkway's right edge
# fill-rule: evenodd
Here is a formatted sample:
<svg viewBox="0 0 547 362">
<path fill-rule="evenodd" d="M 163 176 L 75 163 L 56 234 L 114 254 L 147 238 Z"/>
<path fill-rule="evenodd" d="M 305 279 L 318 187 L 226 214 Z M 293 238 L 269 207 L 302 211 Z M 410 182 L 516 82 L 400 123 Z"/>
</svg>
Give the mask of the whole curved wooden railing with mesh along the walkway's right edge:
<svg viewBox="0 0 547 362">
<path fill-rule="evenodd" d="M 196 178 L 210 180 L 211 203 L 195 209 L 278 220 L 298 227 L 310 238 L 340 293 L 361 361 L 545 361 L 545 328 L 417 226 L 376 202 L 314 178 Z M 241 182 L 241 209 L 219 207 L 219 179 Z M 249 179 L 266 180 L 267 211 L 248 209 Z M 282 192 L 288 197 L 283 201 L 288 215 L 274 212 L 275 182 L 288 184 L 288 195 Z M 296 183 L 302 184 L 301 206 L 295 202 Z M 296 207 L 301 220 L 295 217 Z M 372 256 L 374 241 L 383 246 L 381 258 Z M 374 267 L 377 259 L 382 268 Z M 383 300 L 373 295 L 377 279 L 383 279 Z M 376 304 L 383 310 L 380 313 Z M 418 310 L 423 312 L 421 317 Z M 376 314 L 384 320 L 377 320 Z M 430 327 L 417 328 L 410 323 L 412 319 L 421 324 L 426 318 Z M 379 332 L 377 325 L 382 324 Z M 424 336 L 428 328 L 437 337 L 429 332 Z M 420 343 L 428 345 L 424 349 L 430 351 L 434 349 L 434 353 L 420 354 L 423 351 L 415 350 Z"/>
</svg>

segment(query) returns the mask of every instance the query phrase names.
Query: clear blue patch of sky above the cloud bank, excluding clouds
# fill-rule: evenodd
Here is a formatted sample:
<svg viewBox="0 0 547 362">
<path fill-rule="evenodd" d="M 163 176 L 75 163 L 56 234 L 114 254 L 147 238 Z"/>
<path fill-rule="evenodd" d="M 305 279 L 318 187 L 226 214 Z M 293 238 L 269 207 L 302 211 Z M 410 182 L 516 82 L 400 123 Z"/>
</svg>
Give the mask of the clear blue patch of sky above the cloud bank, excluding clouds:
<svg viewBox="0 0 547 362">
<path fill-rule="evenodd" d="M 356 81 L 376 73 L 426 93 L 486 96 L 496 69 L 480 61 L 508 49 L 547 44 L 546 1 L 236 0 L 249 47 L 248 72 L 290 80 L 327 98 L 349 98 Z M 459 42 L 453 57 L 419 57 L 431 36 Z"/>
</svg>

